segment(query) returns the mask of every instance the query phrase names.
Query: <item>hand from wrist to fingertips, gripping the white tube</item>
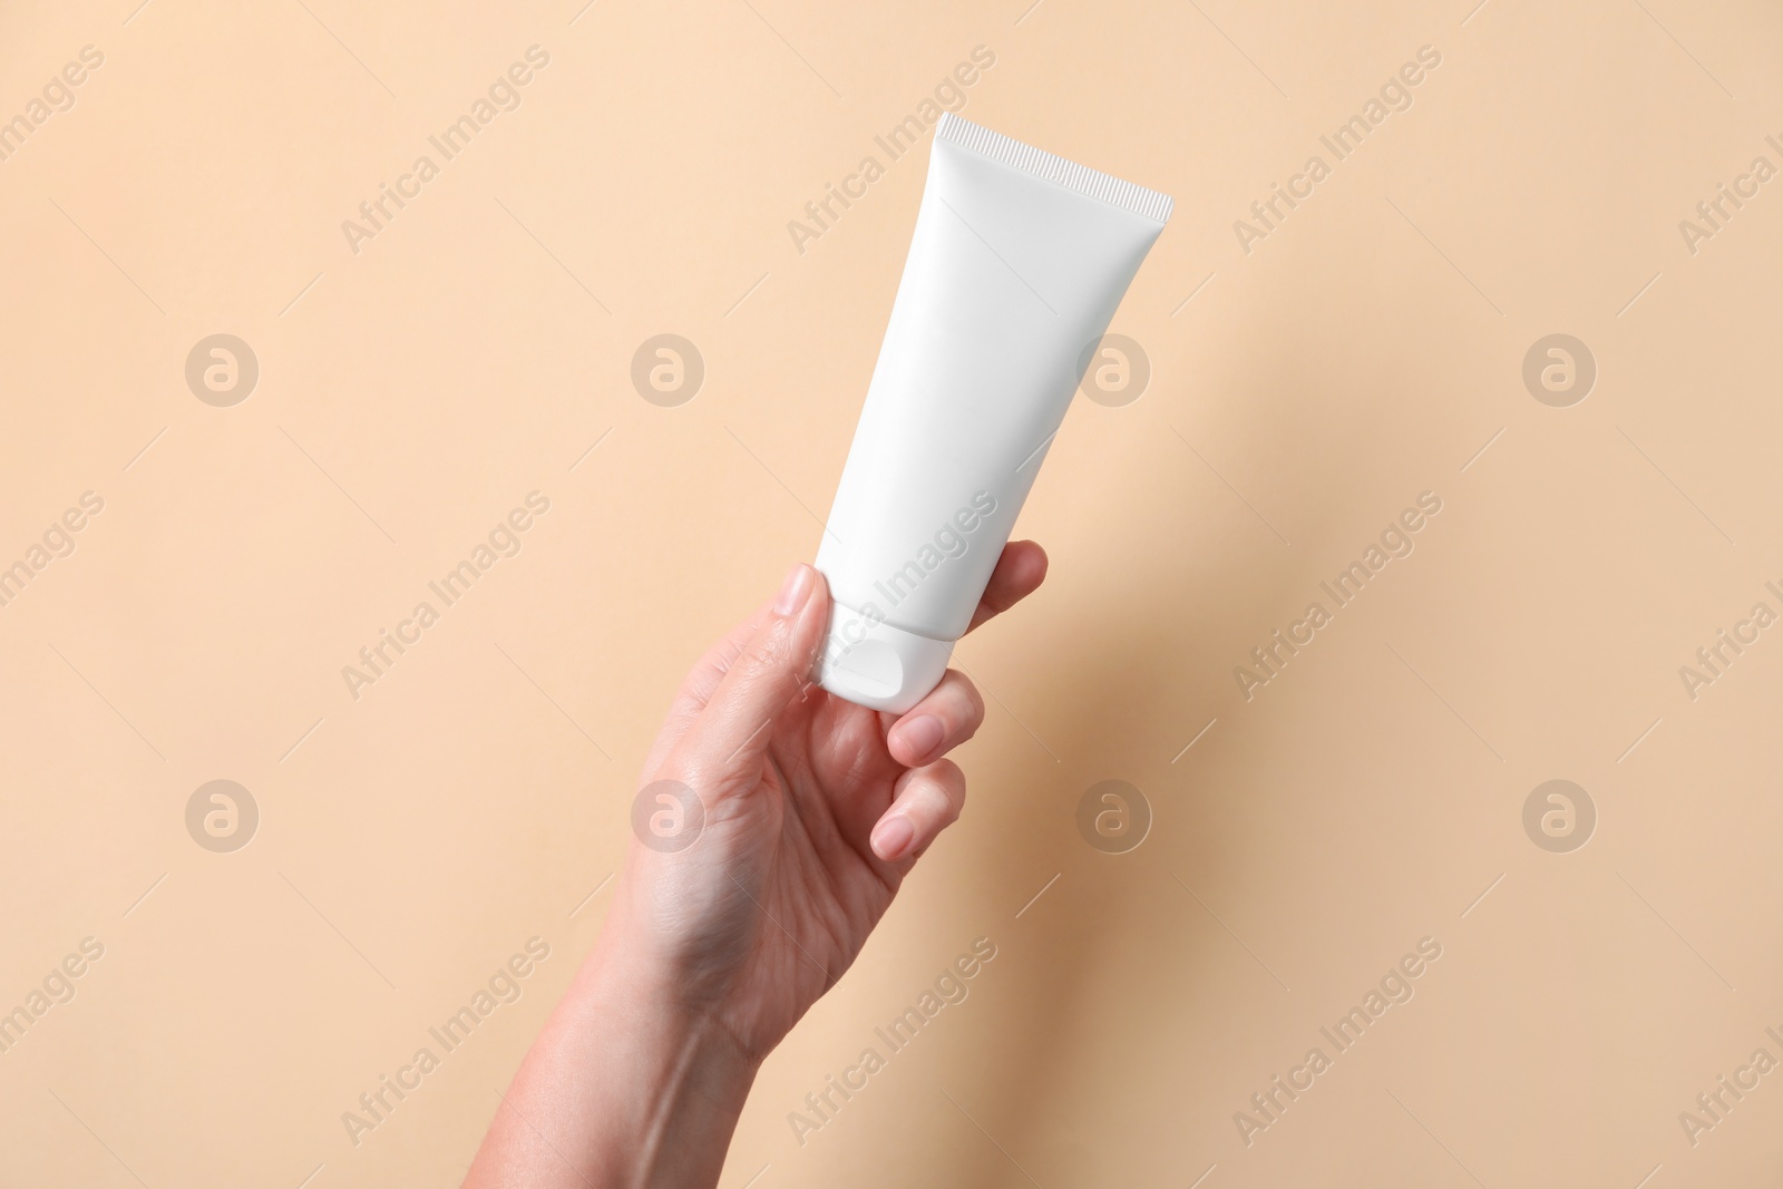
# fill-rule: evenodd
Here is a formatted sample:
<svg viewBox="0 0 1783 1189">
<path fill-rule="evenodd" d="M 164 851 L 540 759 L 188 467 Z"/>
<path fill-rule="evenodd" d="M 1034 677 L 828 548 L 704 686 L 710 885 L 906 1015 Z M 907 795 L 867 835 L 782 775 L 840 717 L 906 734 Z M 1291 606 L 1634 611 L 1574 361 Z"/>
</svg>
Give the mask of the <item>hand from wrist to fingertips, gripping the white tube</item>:
<svg viewBox="0 0 1783 1189">
<path fill-rule="evenodd" d="M 1007 545 L 972 627 L 1045 574 L 1039 545 Z M 945 756 L 984 720 L 984 701 L 956 670 L 904 715 L 811 685 L 827 617 L 822 574 L 795 567 L 694 667 L 640 779 L 645 813 L 685 832 L 633 840 L 608 918 L 672 972 L 683 1007 L 710 1016 L 752 1062 L 842 977 L 904 875 L 959 816 L 966 779 Z M 699 799 L 692 815 L 672 800 L 686 790 Z"/>
</svg>

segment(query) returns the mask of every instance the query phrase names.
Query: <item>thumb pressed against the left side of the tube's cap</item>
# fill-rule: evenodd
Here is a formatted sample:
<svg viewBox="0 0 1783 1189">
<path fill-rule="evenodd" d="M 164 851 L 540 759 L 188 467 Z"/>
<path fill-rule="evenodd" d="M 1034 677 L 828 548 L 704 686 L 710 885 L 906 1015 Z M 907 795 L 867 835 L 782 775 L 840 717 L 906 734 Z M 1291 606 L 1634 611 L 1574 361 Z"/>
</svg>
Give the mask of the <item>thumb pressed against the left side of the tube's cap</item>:
<svg viewBox="0 0 1783 1189">
<path fill-rule="evenodd" d="M 824 576 L 795 565 L 690 733 L 704 759 L 731 772 L 756 767 L 774 738 L 774 720 L 811 677 L 827 619 Z"/>
</svg>

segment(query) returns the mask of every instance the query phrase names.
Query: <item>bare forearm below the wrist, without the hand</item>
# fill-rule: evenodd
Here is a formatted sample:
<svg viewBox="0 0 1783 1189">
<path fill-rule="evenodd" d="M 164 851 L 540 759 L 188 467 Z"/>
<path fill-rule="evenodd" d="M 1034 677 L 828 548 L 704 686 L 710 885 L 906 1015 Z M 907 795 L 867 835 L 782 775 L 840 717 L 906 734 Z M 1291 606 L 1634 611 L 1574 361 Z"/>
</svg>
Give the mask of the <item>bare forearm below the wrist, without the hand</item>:
<svg viewBox="0 0 1783 1189">
<path fill-rule="evenodd" d="M 617 931 L 533 1043 L 465 1189 L 717 1184 L 754 1064 Z"/>
</svg>

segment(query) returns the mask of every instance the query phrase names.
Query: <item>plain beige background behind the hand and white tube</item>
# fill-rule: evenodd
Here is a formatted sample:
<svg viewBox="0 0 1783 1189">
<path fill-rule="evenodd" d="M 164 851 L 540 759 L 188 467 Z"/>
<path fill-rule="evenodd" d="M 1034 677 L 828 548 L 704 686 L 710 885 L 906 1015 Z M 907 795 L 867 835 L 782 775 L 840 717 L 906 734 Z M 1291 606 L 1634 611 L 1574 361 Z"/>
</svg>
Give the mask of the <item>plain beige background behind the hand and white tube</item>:
<svg viewBox="0 0 1783 1189">
<path fill-rule="evenodd" d="M 815 549 L 927 146 L 802 255 L 786 223 L 979 45 L 966 116 L 1175 196 L 1114 323 L 1154 374 L 1066 419 L 1020 529 L 1052 578 L 959 649 L 968 811 L 724 1185 L 1783 1173 L 1783 1075 L 1696 1146 L 1678 1119 L 1783 1057 L 1783 633 L 1678 676 L 1783 610 L 1783 182 L 1694 255 L 1678 228 L 1783 166 L 1783 14 L 1027 2 L 0 16 L 0 118 L 105 55 L 0 162 L 0 565 L 105 501 L 0 608 L 0 1009 L 105 947 L 0 1054 L 0 1182 L 456 1184 L 670 690 Z M 522 105 L 355 255 L 342 219 L 531 45 Z M 1234 219 L 1423 45 L 1414 105 L 1246 255 Z M 706 362 L 678 408 L 629 381 L 665 332 Z M 212 333 L 259 358 L 232 408 L 185 385 Z M 1549 333 L 1598 362 L 1569 408 L 1521 380 Z M 533 490 L 519 556 L 351 699 Z M 1245 701 L 1425 490 L 1416 553 Z M 1521 818 L 1557 777 L 1599 815 L 1571 854 Z M 185 829 L 212 779 L 259 804 L 232 854 Z M 1129 854 L 1079 836 L 1102 779 L 1155 813 Z M 342 1112 L 531 936 L 522 998 L 355 1146 Z M 981 936 L 970 996 L 801 1146 L 788 1112 Z M 1234 1112 L 1425 936 L 1416 996 L 1246 1146 Z"/>
</svg>

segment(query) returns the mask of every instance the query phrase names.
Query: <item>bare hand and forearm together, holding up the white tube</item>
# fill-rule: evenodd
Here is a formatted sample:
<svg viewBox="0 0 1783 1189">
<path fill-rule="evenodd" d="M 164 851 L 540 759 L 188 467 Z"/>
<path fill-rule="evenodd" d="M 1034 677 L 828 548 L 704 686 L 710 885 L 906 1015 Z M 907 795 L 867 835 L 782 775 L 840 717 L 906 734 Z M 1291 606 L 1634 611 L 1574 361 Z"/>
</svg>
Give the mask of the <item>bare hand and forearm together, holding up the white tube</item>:
<svg viewBox="0 0 1783 1189">
<path fill-rule="evenodd" d="M 1011 542 L 972 627 L 1045 574 L 1039 545 Z M 945 756 L 984 701 L 956 670 L 904 715 L 827 693 L 809 683 L 827 617 L 822 574 L 793 567 L 688 674 L 638 783 L 661 829 L 633 838 L 601 939 L 465 1189 L 715 1185 L 761 1061 L 959 816 L 966 781 Z"/>
</svg>

